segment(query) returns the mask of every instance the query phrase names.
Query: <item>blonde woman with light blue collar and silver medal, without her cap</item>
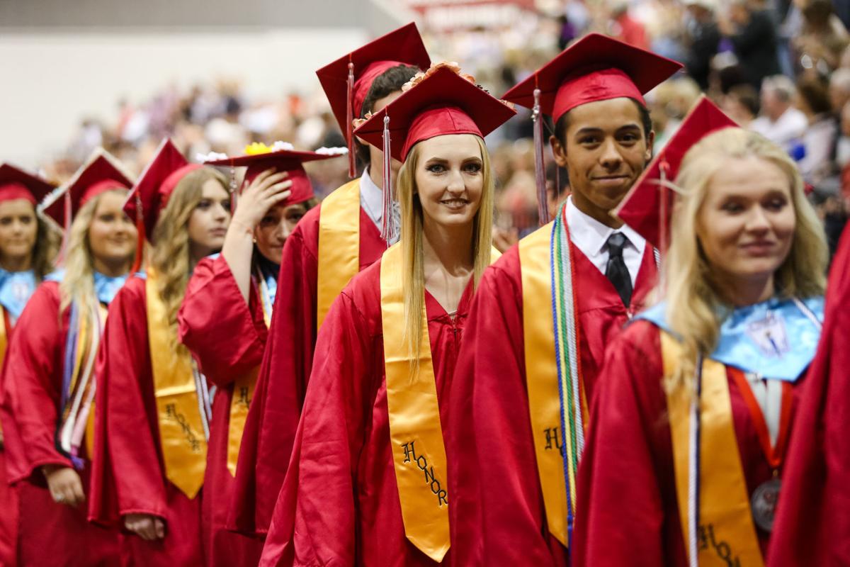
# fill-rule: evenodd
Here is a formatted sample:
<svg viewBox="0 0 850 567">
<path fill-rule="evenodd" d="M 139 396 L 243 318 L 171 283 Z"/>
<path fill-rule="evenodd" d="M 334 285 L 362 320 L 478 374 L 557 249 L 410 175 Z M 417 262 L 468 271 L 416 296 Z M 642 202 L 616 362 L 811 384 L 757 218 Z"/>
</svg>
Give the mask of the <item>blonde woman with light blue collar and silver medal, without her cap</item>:
<svg viewBox="0 0 850 567">
<path fill-rule="evenodd" d="M 592 410 L 580 565 L 767 561 L 825 238 L 794 163 L 760 134 L 706 135 L 675 184 L 666 301 L 610 345 Z"/>
</svg>

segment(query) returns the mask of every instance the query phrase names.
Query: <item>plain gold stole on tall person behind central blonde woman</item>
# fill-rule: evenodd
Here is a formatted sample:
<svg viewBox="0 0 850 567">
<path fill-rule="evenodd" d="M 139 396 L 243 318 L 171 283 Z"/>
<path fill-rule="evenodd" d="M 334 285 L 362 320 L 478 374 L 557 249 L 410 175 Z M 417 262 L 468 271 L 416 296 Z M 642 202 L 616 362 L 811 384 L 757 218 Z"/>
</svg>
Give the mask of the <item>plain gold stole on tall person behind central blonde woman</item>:
<svg viewBox="0 0 850 567">
<path fill-rule="evenodd" d="M 360 179 L 326 196 L 319 211 L 316 332 L 343 288 L 360 271 Z"/>
</svg>

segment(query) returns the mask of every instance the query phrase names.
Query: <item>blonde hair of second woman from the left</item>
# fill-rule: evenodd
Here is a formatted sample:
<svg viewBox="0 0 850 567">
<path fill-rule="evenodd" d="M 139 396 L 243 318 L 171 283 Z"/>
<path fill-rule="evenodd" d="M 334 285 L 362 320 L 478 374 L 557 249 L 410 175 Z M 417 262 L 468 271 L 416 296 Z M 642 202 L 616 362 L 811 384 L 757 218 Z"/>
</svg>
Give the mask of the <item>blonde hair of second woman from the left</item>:
<svg viewBox="0 0 850 567">
<path fill-rule="evenodd" d="M 65 311 L 71 303 L 77 303 L 80 313 L 88 314 L 89 309 L 97 301 L 94 297 L 94 254 L 88 241 L 88 231 L 92 226 L 94 214 L 97 213 L 100 200 L 107 193 L 127 196 L 126 189 L 111 189 L 105 191 L 85 205 L 80 207 L 71 231 L 68 235 L 67 258 L 65 258 L 65 275 L 59 283 L 59 313 Z M 128 260 L 132 263 L 135 250 Z"/>
</svg>

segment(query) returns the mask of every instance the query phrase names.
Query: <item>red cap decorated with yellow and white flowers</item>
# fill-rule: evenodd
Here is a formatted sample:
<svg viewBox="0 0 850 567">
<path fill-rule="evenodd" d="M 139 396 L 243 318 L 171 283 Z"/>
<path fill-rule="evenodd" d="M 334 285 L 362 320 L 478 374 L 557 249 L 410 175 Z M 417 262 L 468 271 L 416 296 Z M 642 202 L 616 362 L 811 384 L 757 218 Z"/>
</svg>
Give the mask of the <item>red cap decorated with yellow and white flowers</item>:
<svg viewBox="0 0 850 567">
<path fill-rule="evenodd" d="M 205 160 L 204 163 L 209 166 L 247 167 L 245 172 L 246 183 L 250 183 L 260 173 L 272 167 L 278 173 L 284 171 L 289 173 L 287 179 L 292 181 L 290 188 L 292 195 L 282 201 L 286 206 L 295 205 L 314 197 L 313 184 L 310 183 L 307 172 L 304 171 L 303 163 L 327 160 L 348 153 L 345 148 L 296 151 L 292 148 L 292 145 L 283 142 L 276 142 L 271 147 L 254 143 L 246 147 L 245 150 L 245 156 L 217 156 L 217 159 Z"/>
</svg>

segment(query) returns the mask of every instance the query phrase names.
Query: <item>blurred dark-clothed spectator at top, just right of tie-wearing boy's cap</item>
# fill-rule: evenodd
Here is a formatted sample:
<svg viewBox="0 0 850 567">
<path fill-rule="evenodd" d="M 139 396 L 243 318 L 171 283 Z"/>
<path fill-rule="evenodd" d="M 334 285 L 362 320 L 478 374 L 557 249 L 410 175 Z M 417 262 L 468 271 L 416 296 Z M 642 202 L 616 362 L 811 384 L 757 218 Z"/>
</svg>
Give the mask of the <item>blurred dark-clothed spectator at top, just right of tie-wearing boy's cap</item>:
<svg viewBox="0 0 850 567">
<path fill-rule="evenodd" d="M 688 9 L 685 20 L 685 43 L 688 46 L 685 69 L 702 90 L 707 90 L 711 59 L 720 48 L 720 30 L 714 15 L 717 4 L 714 0 L 684 0 L 684 3 Z"/>
</svg>

